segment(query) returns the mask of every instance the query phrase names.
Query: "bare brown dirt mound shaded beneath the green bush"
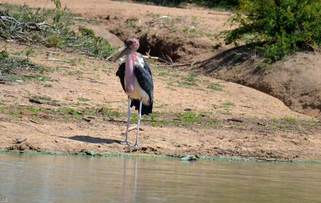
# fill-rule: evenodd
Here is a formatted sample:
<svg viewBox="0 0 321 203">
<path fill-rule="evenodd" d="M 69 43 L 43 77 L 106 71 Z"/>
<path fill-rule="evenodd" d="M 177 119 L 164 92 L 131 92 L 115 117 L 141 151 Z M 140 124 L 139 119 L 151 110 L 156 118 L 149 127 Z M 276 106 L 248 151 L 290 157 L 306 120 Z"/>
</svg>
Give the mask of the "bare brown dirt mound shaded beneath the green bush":
<svg viewBox="0 0 321 203">
<path fill-rule="evenodd" d="M 321 118 L 321 53 L 299 52 L 266 64 L 248 47 L 235 48 L 202 62 L 199 71 L 270 94 L 291 110 Z"/>
</svg>

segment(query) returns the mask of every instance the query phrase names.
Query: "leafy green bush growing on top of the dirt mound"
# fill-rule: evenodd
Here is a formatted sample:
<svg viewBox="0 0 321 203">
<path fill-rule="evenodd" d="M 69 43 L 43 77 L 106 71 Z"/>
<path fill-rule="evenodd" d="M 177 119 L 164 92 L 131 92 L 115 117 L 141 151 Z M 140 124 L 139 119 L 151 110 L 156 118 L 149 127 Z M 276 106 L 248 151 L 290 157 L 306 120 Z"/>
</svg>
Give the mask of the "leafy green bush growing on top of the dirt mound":
<svg viewBox="0 0 321 203">
<path fill-rule="evenodd" d="M 257 43 L 269 61 L 321 44 L 319 0 L 240 0 L 229 20 L 233 30 L 221 32 L 225 44 Z"/>
</svg>

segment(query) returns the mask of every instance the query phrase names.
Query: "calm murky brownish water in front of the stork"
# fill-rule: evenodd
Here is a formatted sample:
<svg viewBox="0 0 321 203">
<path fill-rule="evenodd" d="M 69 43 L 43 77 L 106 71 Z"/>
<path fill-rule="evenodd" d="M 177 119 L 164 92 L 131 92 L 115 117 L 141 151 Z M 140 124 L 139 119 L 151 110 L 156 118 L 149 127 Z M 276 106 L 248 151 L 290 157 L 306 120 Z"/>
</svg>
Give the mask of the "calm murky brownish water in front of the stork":
<svg viewBox="0 0 321 203">
<path fill-rule="evenodd" d="M 321 164 L 0 154 L 7 202 L 321 202 Z"/>
</svg>

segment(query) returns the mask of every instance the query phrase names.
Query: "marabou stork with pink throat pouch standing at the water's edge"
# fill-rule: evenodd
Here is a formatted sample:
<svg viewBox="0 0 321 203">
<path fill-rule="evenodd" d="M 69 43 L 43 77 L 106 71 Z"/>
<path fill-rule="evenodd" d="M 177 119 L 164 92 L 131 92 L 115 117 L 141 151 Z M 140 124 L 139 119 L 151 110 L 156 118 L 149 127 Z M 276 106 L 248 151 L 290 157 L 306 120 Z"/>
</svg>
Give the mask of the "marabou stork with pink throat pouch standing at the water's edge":
<svg viewBox="0 0 321 203">
<path fill-rule="evenodd" d="M 128 96 L 128 110 L 127 110 L 127 132 L 125 142 L 121 144 L 130 145 L 128 142 L 128 126 L 130 118 L 130 107 L 135 106 L 135 110 L 138 110 L 138 122 L 137 122 L 137 137 L 136 143 L 133 147 L 138 147 L 138 131 L 139 122 L 141 116 L 152 113 L 153 108 L 153 79 L 151 69 L 148 67 L 145 58 L 137 51 L 139 42 L 135 38 L 128 40 L 124 46 L 119 48 L 115 53 L 110 55 L 106 60 L 111 57 L 117 56 L 110 62 L 125 56 L 125 63 L 122 63 L 116 76 L 119 77 L 120 83 Z M 109 62 L 109 63 L 110 63 Z M 129 101 L 131 100 L 131 103 Z"/>
</svg>

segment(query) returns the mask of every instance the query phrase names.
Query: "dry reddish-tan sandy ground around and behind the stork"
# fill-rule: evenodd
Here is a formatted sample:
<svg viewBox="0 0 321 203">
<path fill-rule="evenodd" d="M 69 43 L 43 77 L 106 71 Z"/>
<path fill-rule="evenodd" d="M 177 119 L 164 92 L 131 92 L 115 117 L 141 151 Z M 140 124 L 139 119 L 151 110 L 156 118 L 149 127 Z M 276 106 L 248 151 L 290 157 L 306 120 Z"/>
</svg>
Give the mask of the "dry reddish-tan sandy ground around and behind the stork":
<svg viewBox="0 0 321 203">
<path fill-rule="evenodd" d="M 23 4 L 17 0 L 8 2 Z M 124 40 L 135 36 L 141 40 L 139 51 L 142 53 L 150 49 L 151 55 L 164 53 L 181 62 L 211 60 L 218 54 L 211 52 L 215 41 L 206 33 L 219 29 L 229 17 L 228 13 L 208 9 L 103 0 L 95 1 L 95 4 L 88 0 L 81 4 L 74 0 L 61 2 L 77 14 L 90 14 L 91 18 L 99 19 L 99 25 L 88 26 L 113 46 L 120 46 Z M 44 6 L 45 2 L 31 0 L 27 4 L 38 7 Z M 50 2 L 47 7 L 52 7 Z M 172 20 L 160 18 L 165 15 Z M 131 17 L 139 19 L 135 23 L 142 24 L 141 31 L 137 32 L 139 26 L 133 29 L 126 26 Z M 186 27 L 200 29 L 181 33 Z M 175 28 L 177 31 L 170 32 Z M 167 44 L 168 41 L 172 43 Z M 5 43 L 0 42 L 0 46 Z M 10 54 L 27 49 L 24 45 L 7 44 Z M 123 121 L 126 120 L 127 103 L 115 75 L 118 63 L 107 64 L 62 50 L 33 49 L 35 53 L 29 56 L 30 60 L 58 69 L 44 75 L 51 76 L 47 81 L 0 84 L 0 107 L 3 109 L 0 111 L 1 150 L 63 153 L 92 150 L 100 154 L 178 157 L 190 153 L 199 157 L 321 161 L 321 126 L 317 119 L 294 112 L 282 101 L 250 87 L 193 75 L 184 69 L 156 66 L 156 62 L 150 63 L 154 80 L 154 113 L 153 117 L 141 122 L 141 148 L 121 145 L 120 141 L 125 139 L 121 133 L 126 128 Z M 74 63 L 50 61 L 49 51 L 60 52 L 60 55 L 50 57 L 73 60 Z M 204 62 L 200 64 L 203 65 L 202 72 L 215 75 Z M 189 77 L 195 85 L 178 87 L 179 82 L 188 81 Z M 45 84 L 52 87 L 45 87 Z M 214 90 L 213 87 L 222 89 Z M 38 105 L 29 102 L 30 98 L 39 96 L 46 96 L 49 101 Z M 55 102 L 61 106 L 55 106 Z M 135 125 L 133 119 L 130 126 Z M 13 141 L 19 138 L 27 140 L 20 144 Z M 130 141 L 134 142 L 134 139 L 135 130 L 130 132 Z"/>
</svg>

